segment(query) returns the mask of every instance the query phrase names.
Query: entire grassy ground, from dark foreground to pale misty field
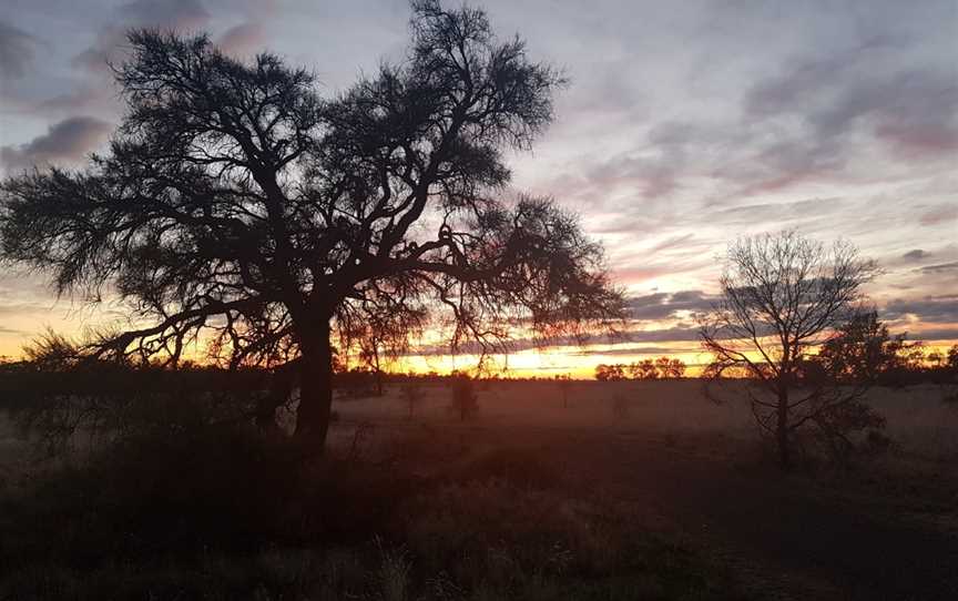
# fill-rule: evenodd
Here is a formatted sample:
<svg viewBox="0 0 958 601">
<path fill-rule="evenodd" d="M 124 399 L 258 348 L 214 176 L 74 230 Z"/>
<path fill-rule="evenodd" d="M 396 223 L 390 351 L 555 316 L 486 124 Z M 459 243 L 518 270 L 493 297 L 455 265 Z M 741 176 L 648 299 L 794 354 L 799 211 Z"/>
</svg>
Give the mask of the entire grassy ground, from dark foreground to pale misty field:
<svg viewBox="0 0 958 601">
<path fill-rule="evenodd" d="M 24 478 L 4 426 L 0 599 L 958 598 L 936 387 L 875 390 L 889 448 L 789 475 L 695 380 L 478 395 L 467 421 L 444 385 L 411 416 L 398 385 L 339 399 L 308 465 L 201 432 Z"/>
</svg>

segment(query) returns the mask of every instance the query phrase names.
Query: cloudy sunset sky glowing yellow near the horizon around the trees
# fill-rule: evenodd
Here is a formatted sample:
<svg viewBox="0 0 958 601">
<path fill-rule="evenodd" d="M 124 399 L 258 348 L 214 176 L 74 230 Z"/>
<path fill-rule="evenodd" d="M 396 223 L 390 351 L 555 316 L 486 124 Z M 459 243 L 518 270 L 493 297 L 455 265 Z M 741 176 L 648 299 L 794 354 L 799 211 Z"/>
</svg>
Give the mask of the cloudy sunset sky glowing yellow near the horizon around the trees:
<svg viewBox="0 0 958 601">
<path fill-rule="evenodd" d="M 501 37 L 563 70 L 556 122 L 510 156 L 517 191 L 551 195 L 602 241 L 635 316 L 625 342 L 524 349 L 522 370 L 702 360 L 692 315 L 740 235 L 844 237 L 883 269 L 893 332 L 958 339 L 958 2 L 488 0 Z M 447 3 L 458 6 L 458 3 Z M 404 0 L 0 0 L 0 171 L 80 166 L 119 122 L 108 60 L 131 27 L 207 31 L 269 50 L 335 94 L 408 40 Z M 45 327 L 122 307 L 58 299 L 0 273 L 0 355 Z M 467 363 L 468 358 L 457 359 Z M 418 368 L 444 369 L 424 355 Z"/>
</svg>

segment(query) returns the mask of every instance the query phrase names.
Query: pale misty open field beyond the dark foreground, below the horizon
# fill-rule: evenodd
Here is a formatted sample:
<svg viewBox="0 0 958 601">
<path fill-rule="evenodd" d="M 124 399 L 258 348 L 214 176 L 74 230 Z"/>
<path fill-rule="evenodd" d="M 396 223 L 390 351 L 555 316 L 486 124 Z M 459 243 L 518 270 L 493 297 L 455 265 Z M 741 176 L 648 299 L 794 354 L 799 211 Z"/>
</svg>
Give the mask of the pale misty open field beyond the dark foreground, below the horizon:
<svg viewBox="0 0 958 601">
<path fill-rule="evenodd" d="M 349 438 L 350 426 L 355 429 L 364 421 L 381 426 L 377 438 L 410 426 L 441 425 L 444 429 L 453 430 L 459 427 L 460 420 L 449 410 L 448 387 L 425 386 L 424 398 L 417 404 L 411 419 L 400 389 L 400 385 L 391 386 L 381 398 L 339 397 L 334 410 L 343 424 L 334 434 Z M 573 380 L 568 403 L 563 403 L 559 385 L 551 381 L 480 384 L 478 395 L 479 416 L 467 422 L 466 428 L 571 429 L 597 435 L 651 434 L 663 437 L 712 435 L 735 442 L 726 446 L 726 450 L 756 440 L 747 406 L 744 403 L 718 405 L 710 401 L 696 379 L 642 383 Z M 881 387 L 869 393 L 868 403 L 887 418 L 887 434 L 901 446 L 905 455 L 948 461 L 958 457 L 958 407 L 942 403 L 942 396 L 944 389 L 934 385 Z"/>
</svg>

